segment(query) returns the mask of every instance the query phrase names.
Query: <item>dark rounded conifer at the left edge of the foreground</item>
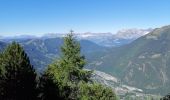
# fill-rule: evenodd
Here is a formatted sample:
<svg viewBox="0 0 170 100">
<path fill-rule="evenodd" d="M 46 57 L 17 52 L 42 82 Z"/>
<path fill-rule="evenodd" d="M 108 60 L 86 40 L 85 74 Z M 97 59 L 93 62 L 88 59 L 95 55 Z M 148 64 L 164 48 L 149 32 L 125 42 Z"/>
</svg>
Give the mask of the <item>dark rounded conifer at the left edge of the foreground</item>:
<svg viewBox="0 0 170 100">
<path fill-rule="evenodd" d="M 13 42 L 0 55 L 0 98 L 36 99 L 36 72 L 23 48 Z"/>
</svg>

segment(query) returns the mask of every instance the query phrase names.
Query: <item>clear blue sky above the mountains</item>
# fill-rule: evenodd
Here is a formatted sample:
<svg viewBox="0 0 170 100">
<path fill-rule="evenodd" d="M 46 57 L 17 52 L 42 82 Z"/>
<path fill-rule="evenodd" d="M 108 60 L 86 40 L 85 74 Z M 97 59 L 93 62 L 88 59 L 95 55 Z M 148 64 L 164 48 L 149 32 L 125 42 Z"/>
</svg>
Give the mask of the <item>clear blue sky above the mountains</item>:
<svg viewBox="0 0 170 100">
<path fill-rule="evenodd" d="M 0 36 L 116 33 L 170 24 L 170 0 L 0 0 Z"/>
</svg>

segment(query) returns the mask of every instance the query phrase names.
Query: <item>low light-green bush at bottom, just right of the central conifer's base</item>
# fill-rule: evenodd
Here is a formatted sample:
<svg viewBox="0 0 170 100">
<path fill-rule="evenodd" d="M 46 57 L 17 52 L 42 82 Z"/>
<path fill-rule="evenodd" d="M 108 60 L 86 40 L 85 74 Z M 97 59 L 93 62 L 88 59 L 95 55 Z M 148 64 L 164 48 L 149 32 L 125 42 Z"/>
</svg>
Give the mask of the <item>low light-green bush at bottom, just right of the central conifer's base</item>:
<svg viewBox="0 0 170 100">
<path fill-rule="evenodd" d="M 101 84 L 80 82 L 78 100 L 117 100 L 113 90 Z"/>
</svg>

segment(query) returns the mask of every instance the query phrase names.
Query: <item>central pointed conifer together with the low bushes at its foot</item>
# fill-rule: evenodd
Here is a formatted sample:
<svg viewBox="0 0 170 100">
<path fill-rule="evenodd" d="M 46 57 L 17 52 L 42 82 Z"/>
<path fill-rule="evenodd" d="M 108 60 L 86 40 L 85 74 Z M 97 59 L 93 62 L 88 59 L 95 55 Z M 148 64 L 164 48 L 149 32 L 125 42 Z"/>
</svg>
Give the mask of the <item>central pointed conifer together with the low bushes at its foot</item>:
<svg viewBox="0 0 170 100">
<path fill-rule="evenodd" d="M 61 51 L 61 57 L 48 66 L 40 79 L 43 100 L 50 95 L 65 100 L 116 100 L 111 89 L 90 80 L 92 72 L 83 69 L 85 57 L 72 33 L 64 38 Z"/>
</svg>

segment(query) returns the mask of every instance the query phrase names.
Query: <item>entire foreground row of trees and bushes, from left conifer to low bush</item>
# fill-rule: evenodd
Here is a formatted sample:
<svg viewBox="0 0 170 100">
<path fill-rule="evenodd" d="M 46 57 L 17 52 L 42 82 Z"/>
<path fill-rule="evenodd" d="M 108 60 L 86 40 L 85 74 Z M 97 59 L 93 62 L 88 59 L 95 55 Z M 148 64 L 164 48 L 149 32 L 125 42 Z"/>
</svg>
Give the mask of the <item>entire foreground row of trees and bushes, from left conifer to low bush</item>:
<svg viewBox="0 0 170 100">
<path fill-rule="evenodd" d="M 80 51 L 68 34 L 60 58 L 38 76 L 24 49 L 11 43 L 0 53 L 0 100 L 116 100 L 112 89 L 90 79 Z"/>
</svg>

